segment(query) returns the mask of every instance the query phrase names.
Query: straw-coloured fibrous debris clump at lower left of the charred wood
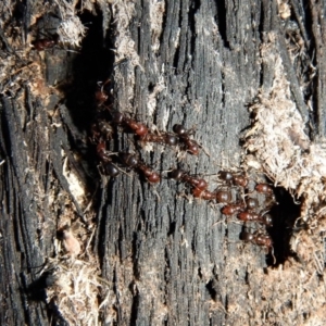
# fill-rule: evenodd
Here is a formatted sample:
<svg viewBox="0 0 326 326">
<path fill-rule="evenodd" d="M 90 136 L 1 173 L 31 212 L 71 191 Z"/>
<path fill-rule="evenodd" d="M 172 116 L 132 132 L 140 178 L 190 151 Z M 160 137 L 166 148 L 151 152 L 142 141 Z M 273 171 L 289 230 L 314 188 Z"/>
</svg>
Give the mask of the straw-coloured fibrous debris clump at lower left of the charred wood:
<svg viewBox="0 0 326 326">
<path fill-rule="evenodd" d="M 98 298 L 105 283 L 100 277 L 97 258 L 88 250 L 95 226 L 86 230 L 83 223 L 73 221 L 75 209 L 68 198 L 65 208 L 58 222 L 55 254 L 48 259 L 45 269 L 52 271 L 54 278 L 47 290 L 47 300 L 57 305 L 70 325 L 98 325 Z"/>
</svg>

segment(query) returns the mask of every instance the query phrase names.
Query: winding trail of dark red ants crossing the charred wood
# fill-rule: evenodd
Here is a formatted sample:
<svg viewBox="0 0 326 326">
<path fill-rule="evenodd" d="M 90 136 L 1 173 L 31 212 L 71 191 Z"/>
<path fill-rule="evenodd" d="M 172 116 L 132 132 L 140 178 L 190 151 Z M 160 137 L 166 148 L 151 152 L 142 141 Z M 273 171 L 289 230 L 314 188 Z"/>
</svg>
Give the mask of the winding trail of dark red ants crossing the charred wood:
<svg viewBox="0 0 326 326">
<path fill-rule="evenodd" d="M 105 166 L 105 174 L 115 177 L 121 172 L 121 166 L 127 170 L 133 170 L 140 173 L 147 181 L 151 184 L 160 183 L 162 176 L 153 171 L 150 166 L 145 164 L 138 159 L 136 154 L 120 152 L 116 153 L 116 160 L 113 162 L 112 153 L 106 150 L 105 141 L 110 140 L 117 128 L 124 128 L 125 131 L 129 131 L 135 135 L 136 139 L 142 143 L 155 142 L 167 146 L 177 146 L 190 154 L 198 155 L 200 146 L 196 140 L 191 139 L 195 134 L 192 129 L 186 129 L 180 124 L 173 126 L 173 133 L 166 131 L 152 131 L 148 126 L 133 117 L 127 113 L 123 113 L 111 109 L 108 103 L 109 95 L 105 87 L 110 84 L 110 80 L 103 83 L 100 89 L 96 92 L 96 101 L 99 108 L 102 108 L 110 114 L 111 120 L 99 118 L 92 124 L 91 133 L 92 138 L 98 140 L 97 152 L 101 161 Z M 273 226 L 273 218 L 268 213 L 268 210 L 263 212 L 256 212 L 259 209 L 259 202 L 250 193 L 258 192 L 266 198 L 274 200 L 273 187 L 265 183 L 258 183 L 254 185 L 254 189 L 248 190 L 250 179 L 242 173 L 235 173 L 230 171 L 220 171 L 217 173 L 218 179 L 224 184 L 223 187 L 217 187 L 215 190 L 209 190 L 209 184 L 203 178 L 190 175 L 188 172 L 183 170 L 170 171 L 168 178 L 181 181 L 191 188 L 191 195 L 193 198 L 214 201 L 222 204 L 221 212 L 226 216 L 236 216 L 237 220 L 247 223 L 259 223 L 266 227 Z M 231 188 L 238 187 L 246 192 L 246 197 L 242 201 L 233 201 Z M 271 249 L 273 241 L 266 233 L 261 229 L 254 233 L 243 231 L 241 239 L 247 242 Z"/>
</svg>

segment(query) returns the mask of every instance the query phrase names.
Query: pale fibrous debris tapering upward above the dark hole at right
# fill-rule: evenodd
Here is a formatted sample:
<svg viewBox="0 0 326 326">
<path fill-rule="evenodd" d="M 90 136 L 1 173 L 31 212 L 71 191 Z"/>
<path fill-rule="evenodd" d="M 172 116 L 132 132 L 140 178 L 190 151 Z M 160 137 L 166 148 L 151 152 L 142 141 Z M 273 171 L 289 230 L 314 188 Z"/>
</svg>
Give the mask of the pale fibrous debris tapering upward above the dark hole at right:
<svg viewBox="0 0 326 326">
<path fill-rule="evenodd" d="M 254 154 L 248 156 L 247 164 L 262 168 L 275 186 L 302 198 L 301 218 L 308 222 L 324 208 L 326 151 L 323 143 L 311 142 L 304 133 L 281 59 L 271 54 L 268 47 L 262 49 L 262 58 L 273 62 L 275 77 L 272 90 L 262 90 L 249 108 L 254 125 L 246 135 L 246 149 Z"/>
</svg>

